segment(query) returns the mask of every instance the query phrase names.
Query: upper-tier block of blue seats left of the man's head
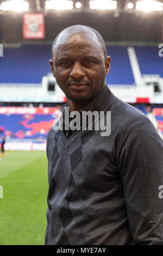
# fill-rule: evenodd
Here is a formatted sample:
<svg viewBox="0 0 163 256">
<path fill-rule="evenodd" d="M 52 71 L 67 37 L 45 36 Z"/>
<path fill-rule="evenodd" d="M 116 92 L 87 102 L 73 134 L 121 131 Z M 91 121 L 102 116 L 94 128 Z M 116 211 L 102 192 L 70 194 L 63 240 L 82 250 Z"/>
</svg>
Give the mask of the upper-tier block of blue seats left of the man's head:
<svg viewBox="0 0 163 256">
<path fill-rule="evenodd" d="M 0 83 L 41 83 L 42 76 L 51 72 L 50 45 L 23 45 L 4 48 Z"/>
</svg>

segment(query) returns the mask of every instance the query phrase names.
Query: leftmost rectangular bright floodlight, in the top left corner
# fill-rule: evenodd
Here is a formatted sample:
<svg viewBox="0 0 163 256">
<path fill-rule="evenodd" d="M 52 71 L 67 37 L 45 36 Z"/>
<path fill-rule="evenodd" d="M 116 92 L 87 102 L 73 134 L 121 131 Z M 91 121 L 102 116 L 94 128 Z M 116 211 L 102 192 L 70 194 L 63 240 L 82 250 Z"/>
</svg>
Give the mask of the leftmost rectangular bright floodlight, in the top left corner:
<svg viewBox="0 0 163 256">
<path fill-rule="evenodd" d="M 28 11 L 29 3 L 23 0 L 11 0 L 1 3 L 3 11 Z"/>
</svg>

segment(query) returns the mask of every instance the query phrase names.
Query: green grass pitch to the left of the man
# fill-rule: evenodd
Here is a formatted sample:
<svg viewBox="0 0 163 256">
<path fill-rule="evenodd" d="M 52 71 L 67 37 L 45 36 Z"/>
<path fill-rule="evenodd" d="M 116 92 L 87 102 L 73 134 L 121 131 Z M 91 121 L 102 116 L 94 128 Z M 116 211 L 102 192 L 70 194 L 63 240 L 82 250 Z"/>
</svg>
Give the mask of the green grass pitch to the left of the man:
<svg viewBox="0 0 163 256">
<path fill-rule="evenodd" d="M 8 151 L 0 161 L 0 245 L 44 245 L 47 210 L 45 151 Z"/>
</svg>

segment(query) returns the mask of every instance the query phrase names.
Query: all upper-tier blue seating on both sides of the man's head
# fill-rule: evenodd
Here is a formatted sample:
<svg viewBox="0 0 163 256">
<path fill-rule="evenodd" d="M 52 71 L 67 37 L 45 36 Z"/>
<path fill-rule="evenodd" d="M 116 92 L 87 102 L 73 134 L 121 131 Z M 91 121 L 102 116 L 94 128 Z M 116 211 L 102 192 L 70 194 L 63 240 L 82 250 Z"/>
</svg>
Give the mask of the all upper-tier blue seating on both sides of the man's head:
<svg viewBox="0 0 163 256">
<path fill-rule="evenodd" d="M 134 47 L 142 74 L 159 74 L 163 77 L 162 58 L 158 47 Z M 106 83 L 134 84 L 127 47 L 107 46 L 111 68 Z M 42 76 L 51 72 L 48 60 L 51 45 L 22 45 L 4 48 L 1 58 L 0 83 L 41 83 Z"/>
</svg>

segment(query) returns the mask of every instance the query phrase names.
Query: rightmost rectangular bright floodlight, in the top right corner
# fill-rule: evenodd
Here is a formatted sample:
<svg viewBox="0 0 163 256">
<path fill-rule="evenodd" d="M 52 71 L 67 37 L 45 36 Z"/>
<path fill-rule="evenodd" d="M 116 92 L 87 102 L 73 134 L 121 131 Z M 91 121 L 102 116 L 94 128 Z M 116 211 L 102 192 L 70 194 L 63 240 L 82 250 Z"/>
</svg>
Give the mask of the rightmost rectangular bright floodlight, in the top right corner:
<svg viewBox="0 0 163 256">
<path fill-rule="evenodd" d="M 143 0 L 136 2 L 136 10 L 139 11 L 162 11 L 163 3 L 153 0 Z"/>
</svg>

